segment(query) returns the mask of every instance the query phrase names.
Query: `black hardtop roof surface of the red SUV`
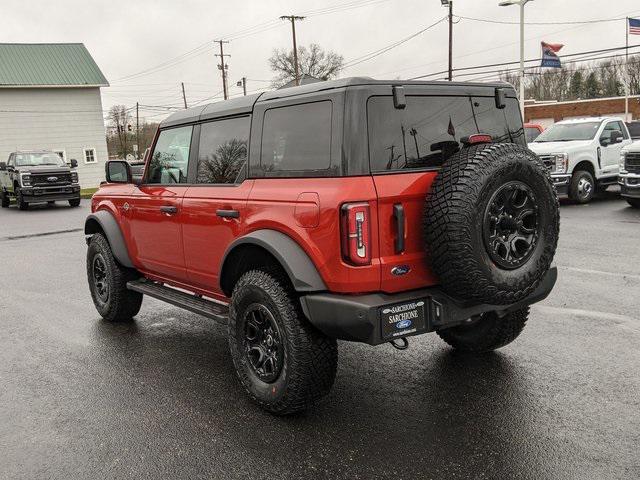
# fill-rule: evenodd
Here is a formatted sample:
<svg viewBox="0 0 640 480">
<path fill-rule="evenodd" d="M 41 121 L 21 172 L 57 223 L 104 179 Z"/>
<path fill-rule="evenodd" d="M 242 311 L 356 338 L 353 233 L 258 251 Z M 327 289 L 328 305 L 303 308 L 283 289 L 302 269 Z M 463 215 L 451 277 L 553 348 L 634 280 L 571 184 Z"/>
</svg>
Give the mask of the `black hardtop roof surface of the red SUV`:
<svg viewBox="0 0 640 480">
<path fill-rule="evenodd" d="M 513 88 L 509 83 L 492 82 L 492 83 L 474 83 L 474 82 L 446 82 L 446 81 L 423 81 L 423 80 L 374 80 L 369 77 L 347 77 L 338 80 L 329 80 L 326 82 L 316 82 L 299 87 L 283 88 L 280 90 L 272 90 L 264 93 L 255 93 L 243 97 L 236 97 L 230 100 L 223 100 L 208 105 L 200 105 L 191 107 L 186 110 L 180 110 L 167 117 L 160 123 L 160 128 L 173 127 L 187 123 L 193 123 L 201 120 L 209 120 L 219 117 L 227 117 L 233 115 L 241 115 L 243 113 L 251 113 L 256 102 L 264 102 L 275 100 L 277 98 L 287 98 L 297 95 L 307 95 L 324 90 L 332 90 L 346 87 L 356 86 L 375 86 L 375 85 L 402 85 L 402 86 L 434 86 L 442 89 L 443 94 L 460 94 L 460 90 L 464 90 L 465 94 L 473 94 L 478 91 L 486 91 L 489 88 L 508 87 Z M 515 92 L 514 92 L 515 93 Z"/>
</svg>

